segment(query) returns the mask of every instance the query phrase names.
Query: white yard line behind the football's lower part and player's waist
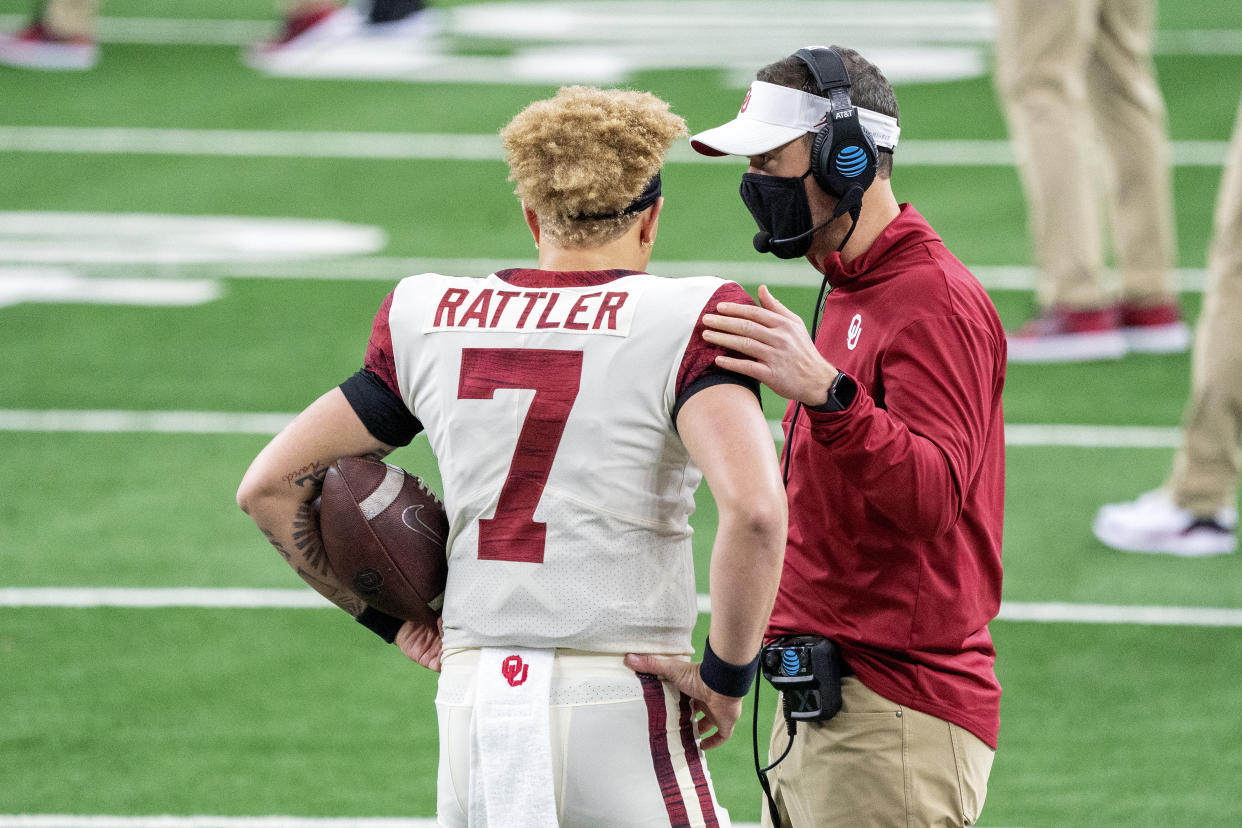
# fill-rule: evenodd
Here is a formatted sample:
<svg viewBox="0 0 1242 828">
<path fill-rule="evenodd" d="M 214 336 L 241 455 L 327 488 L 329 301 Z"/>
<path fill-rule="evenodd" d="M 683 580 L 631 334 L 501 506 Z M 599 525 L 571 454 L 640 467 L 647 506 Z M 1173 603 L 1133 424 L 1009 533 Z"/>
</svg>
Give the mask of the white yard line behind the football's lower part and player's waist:
<svg viewBox="0 0 1242 828">
<path fill-rule="evenodd" d="M 252 590 L 233 587 L 0 587 L 0 607 L 86 610 L 328 610 L 330 605 L 310 590 Z M 712 611 L 707 595 L 698 610 Z M 1005 601 L 1000 621 L 1079 624 L 1151 624 L 1159 627 L 1242 627 L 1242 610 L 1212 607 L 1124 606 Z"/>
</svg>

